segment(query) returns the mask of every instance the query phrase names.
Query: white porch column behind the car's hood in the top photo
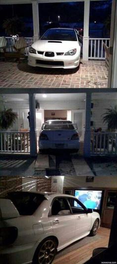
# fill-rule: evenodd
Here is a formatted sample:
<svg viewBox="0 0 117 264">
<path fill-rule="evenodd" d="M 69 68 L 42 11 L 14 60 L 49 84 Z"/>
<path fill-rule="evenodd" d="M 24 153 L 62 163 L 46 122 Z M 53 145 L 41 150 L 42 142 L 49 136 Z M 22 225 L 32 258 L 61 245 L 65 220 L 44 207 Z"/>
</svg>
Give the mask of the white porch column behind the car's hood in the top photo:
<svg viewBox="0 0 117 264">
<path fill-rule="evenodd" d="M 33 41 L 39 39 L 39 7 L 38 1 L 32 0 L 32 12 L 33 12 Z"/>
</svg>

